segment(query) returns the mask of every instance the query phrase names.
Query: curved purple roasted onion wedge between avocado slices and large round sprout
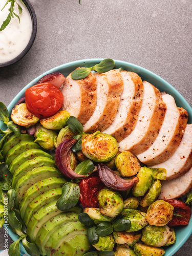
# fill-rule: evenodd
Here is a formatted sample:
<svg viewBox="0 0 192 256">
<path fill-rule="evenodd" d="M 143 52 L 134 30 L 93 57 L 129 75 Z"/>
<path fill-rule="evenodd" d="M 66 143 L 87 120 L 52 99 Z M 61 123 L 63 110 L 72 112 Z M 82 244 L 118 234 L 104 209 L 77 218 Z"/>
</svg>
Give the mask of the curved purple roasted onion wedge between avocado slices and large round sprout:
<svg viewBox="0 0 192 256">
<path fill-rule="evenodd" d="M 87 176 L 76 174 L 71 168 L 71 147 L 77 142 L 75 139 L 67 139 L 61 142 L 55 150 L 55 163 L 60 172 L 70 179 L 85 178 Z"/>
</svg>

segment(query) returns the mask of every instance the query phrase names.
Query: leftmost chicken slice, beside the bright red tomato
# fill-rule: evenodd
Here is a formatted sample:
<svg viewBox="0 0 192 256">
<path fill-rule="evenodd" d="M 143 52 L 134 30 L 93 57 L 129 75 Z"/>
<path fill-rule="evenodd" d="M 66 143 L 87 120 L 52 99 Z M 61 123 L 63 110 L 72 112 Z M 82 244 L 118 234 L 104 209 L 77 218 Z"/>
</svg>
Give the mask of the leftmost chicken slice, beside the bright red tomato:
<svg viewBox="0 0 192 256">
<path fill-rule="evenodd" d="M 62 109 L 67 110 L 82 124 L 85 124 L 95 111 L 96 84 L 96 78 L 92 73 L 80 80 L 73 80 L 70 74 L 63 84 Z"/>
</svg>

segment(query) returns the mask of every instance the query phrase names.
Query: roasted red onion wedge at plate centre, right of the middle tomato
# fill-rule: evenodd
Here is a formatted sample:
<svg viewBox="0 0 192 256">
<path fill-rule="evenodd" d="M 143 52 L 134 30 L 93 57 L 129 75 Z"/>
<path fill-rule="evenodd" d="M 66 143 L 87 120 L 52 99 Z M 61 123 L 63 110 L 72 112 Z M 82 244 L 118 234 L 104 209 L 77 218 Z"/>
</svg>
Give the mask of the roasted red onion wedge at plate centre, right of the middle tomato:
<svg viewBox="0 0 192 256">
<path fill-rule="evenodd" d="M 125 191 L 139 181 L 137 177 L 132 180 L 124 180 L 108 166 L 101 163 L 98 164 L 98 176 L 105 186 L 119 191 Z"/>
</svg>

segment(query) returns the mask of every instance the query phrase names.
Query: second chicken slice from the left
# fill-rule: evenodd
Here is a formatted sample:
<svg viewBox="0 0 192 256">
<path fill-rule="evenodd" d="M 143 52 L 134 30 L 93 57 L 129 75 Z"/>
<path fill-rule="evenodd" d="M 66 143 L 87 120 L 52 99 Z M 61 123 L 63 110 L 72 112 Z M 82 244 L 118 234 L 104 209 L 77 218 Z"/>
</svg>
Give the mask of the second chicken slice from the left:
<svg viewBox="0 0 192 256">
<path fill-rule="evenodd" d="M 93 115 L 84 124 L 83 132 L 86 133 L 103 131 L 112 123 L 123 91 L 123 80 L 119 70 L 95 73 L 94 76 L 97 79 L 97 103 Z"/>
</svg>

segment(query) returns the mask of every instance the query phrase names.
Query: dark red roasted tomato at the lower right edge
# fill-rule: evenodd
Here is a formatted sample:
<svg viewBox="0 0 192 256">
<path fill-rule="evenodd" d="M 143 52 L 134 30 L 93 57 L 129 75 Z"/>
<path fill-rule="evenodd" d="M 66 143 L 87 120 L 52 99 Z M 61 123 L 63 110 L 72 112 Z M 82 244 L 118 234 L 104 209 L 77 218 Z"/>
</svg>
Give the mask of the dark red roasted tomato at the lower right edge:
<svg viewBox="0 0 192 256">
<path fill-rule="evenodd" d="M 187 204 L 177 199 L 169 199 L 164 201 L 168 202 L 174 207 L 174 217 L 168 222 L 167 225 L 169 227 L 187 225 L 190 219 L 191 208 Z"/>
</svg>

